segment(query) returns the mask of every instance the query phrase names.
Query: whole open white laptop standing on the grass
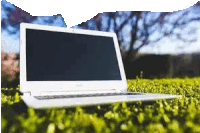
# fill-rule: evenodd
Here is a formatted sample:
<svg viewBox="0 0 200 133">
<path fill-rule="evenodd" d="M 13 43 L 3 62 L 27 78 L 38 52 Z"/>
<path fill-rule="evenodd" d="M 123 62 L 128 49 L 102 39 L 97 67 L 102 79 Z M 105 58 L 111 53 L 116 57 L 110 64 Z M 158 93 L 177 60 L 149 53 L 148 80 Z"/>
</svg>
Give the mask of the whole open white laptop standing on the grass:
<svg viewBox="0 0 200 133">
<path fill-rule="evenodd" d="M 37 109 L 180 97 L 127 92 L 115 33 L 28 23 L 20 24 L 20 91 Z"/>
</svg>

